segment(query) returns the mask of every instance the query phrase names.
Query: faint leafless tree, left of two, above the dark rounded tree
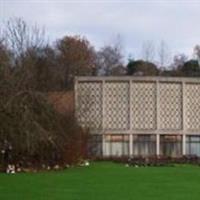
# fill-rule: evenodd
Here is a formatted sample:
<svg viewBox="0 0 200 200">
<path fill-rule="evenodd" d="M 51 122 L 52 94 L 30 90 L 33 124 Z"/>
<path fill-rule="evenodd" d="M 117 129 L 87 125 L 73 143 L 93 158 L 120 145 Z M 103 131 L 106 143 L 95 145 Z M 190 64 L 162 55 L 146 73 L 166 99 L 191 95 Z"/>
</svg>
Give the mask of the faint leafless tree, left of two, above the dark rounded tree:
<svg viewBox="0 0 200 200">
<path fill-rule="evenodd" d="M 153 62 L 155 57 L 155 44 L 153 41 L 148 40 L 143 42 L 142 45 L 142 59 L 147 62 Z"/>
</svg>

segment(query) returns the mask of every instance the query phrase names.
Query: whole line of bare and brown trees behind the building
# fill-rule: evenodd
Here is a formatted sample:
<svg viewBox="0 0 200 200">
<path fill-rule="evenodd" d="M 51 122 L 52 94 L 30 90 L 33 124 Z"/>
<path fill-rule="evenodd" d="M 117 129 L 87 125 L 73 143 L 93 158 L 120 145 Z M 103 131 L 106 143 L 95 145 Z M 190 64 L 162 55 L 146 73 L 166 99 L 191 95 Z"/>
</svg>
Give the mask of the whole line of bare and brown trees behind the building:
<svg viewBox="0 0 200 200">
<path fill-rule="evenodd" d="M 153 43 L 146 42 L 142 59 L 125 62 L 120 38 L 99 50 L 81 36 L 65 36 L 50 44 L 45 30 L 20 18 L 8 20 L 0 33 L 0 78 L 14 76 L 20 88 L 66 90 L 72 88 L 74 76 L 84 75 L 200 76 L 198 45 L 194 59 L 179 54 L 169 61 L 169 49 L 161 41 L 154 61 Z"/>
</svg>

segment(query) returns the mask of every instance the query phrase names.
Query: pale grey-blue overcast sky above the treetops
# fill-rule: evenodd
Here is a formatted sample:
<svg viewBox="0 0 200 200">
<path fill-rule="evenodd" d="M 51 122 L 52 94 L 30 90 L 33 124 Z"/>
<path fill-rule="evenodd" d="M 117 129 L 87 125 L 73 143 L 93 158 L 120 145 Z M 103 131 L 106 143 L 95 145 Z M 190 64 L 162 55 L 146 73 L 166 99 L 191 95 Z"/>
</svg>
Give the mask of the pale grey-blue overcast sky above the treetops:
<svg viewBox="0 0 200 200">
<path fill-rule="evenodd" d="M 200 0 L 0 0 L 0 23 L 22 17 L 45 26 L 50 41 L 79 34 L 99 48 L 120 34 L 126 56 L 165 40 L 171 55 L 200 44 Z"/>
</svg>

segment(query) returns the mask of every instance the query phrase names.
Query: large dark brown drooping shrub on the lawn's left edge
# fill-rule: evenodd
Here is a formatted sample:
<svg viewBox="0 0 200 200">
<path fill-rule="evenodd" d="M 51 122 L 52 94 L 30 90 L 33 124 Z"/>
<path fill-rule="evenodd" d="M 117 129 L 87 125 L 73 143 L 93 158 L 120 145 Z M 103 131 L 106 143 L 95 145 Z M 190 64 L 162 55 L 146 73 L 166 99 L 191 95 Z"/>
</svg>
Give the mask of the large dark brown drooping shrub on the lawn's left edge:
<svg viewBox="0 0 200 200">
<path fill-rule="evenodd" d="M 55 111 L 45 94 L 15 93 L 0 104 L 0 161 L 23 167 L 76 163 L 85 157 L 86 131 L 73 113 Z"/>
</svg>

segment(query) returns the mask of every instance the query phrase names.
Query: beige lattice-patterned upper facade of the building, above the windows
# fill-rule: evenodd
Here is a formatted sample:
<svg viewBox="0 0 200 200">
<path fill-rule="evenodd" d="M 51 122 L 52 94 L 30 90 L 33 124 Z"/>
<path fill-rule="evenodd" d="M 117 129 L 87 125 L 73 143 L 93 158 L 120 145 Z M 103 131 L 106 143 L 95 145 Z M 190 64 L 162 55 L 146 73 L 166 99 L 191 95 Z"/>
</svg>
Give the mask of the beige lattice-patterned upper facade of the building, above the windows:
<svg viewBox="0 0 200 200">
<path fill-rule="evenodd" d="M 200 80 L 88 78 L 76 82 L 79 123 L 96 133 L 199 133 Z"/>
</svg>

